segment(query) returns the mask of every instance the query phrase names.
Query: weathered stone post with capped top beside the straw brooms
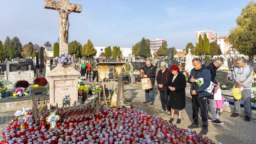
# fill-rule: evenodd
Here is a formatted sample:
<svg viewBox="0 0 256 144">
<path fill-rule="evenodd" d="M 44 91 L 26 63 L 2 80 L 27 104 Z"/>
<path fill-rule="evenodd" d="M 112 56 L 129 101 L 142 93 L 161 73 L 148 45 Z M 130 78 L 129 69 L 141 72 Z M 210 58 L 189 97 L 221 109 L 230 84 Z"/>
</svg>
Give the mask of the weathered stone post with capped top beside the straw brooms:
<svg viewBox="0 0 256 144">
<path fill-rule="evenodd" d="M 117 91 L 116 104 L 118 106 L 124 106 L 124 91 L 123 91 L 124 76 L 119 74 L 116 78 L 118 79 L 118 91 Z"/>
</svg>

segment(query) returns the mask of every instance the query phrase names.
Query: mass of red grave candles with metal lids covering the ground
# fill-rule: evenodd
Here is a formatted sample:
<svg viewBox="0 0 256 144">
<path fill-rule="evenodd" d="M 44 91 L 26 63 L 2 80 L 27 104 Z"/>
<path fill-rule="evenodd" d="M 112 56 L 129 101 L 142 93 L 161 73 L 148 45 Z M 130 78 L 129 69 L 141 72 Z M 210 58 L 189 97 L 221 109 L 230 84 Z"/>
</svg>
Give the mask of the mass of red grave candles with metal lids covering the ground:
<svg viewBox="0 0 256 144">
<path fill-rule="evenodd" d="M 135 109 L 101 109 L 94 115 L 62 119 L 57 128 L 31 112 L 14 118 L 2 132 L 0 144 L 214 144 L 187 128 Z"/>
</svg>

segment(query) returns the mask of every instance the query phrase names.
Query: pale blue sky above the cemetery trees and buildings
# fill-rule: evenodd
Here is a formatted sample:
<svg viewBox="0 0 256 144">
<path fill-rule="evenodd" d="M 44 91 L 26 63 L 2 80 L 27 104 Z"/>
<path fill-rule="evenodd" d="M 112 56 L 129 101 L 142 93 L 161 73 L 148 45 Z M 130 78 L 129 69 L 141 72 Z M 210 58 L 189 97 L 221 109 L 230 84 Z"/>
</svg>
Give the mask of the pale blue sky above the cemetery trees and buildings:
<svg viewBox="0 0 256 144">
<path fill-rule="evenodd" d="M 69 41 L 94 46 L 132 47 L 142 37 L 165 39 L 168 46 L 195 44 L 196 31 L 228 35 L 250 0 L 69 0 L 82 12 L 69 15 Z M 56 10 L 44 9 L 44 0 L 1 0 L 0 40 L 20 38 L 22 44 L 43 46 L 58 39 Z"/>
</svg>

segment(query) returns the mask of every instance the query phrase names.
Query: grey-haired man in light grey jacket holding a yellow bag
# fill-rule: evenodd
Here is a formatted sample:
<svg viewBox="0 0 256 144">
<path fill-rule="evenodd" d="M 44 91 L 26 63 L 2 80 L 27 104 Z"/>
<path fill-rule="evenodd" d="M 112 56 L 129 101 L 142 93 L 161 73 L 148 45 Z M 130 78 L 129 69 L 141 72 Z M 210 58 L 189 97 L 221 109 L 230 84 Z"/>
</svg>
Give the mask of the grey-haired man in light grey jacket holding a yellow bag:
<svg viewBox="0 0 256 144">
<path fill-rule="evenodd" d="M 236 58 L 237 66 L 234 67 L 232 72 L 232 80 L 237 85 L 238 88 L 243 87 L 242 99 L 244 102 L 244 114 L 245 121 L 250 121 L 252 107 L 251 107 L 251 87 L 252 87 L 252 67 L 244 63 L 243 58 Z M 240 101 L 234 99 L 234 113 L 231 117 L 236 117 L 240 114 Z"/>
</svg>

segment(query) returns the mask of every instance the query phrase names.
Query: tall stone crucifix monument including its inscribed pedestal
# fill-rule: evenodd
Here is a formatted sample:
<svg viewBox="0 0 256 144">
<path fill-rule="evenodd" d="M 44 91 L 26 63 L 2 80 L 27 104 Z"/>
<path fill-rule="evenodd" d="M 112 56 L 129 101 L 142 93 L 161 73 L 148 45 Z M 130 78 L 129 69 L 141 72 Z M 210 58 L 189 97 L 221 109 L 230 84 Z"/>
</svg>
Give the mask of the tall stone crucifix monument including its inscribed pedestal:
<svg viewBox="0 0 256 144">
<path fill-rule="evenodd" d="M 57 10 L 59 12 L 59 43 L 60 53 L 68 53 L 68 14 L 81 12 L 80 4 L 69 3 L 68 0 L 44 0 L 44 8 Z M 62 99 L 66 94 L 70 95 L 70 104 L 78 102 L 78 77 L 80 73 L 71 66 L 60 66 L 58 64 L 48 73 L 50 84 L 50 104 L 62 106 Z"/>
</svg>

